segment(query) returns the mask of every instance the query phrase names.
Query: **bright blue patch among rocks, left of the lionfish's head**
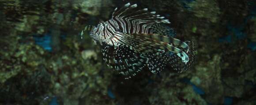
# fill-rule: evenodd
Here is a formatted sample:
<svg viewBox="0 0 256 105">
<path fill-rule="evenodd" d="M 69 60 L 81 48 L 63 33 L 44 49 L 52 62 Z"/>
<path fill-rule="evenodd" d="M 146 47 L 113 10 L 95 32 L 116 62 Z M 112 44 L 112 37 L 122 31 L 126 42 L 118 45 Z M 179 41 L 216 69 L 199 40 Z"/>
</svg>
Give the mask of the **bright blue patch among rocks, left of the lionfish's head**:
<svg viewBox="0 0 256 105">
<path fill-rule="evenodd" d="M 35 44 L 41 46 L 43 49 L 51 52 L 52 47 L 50 45 L 52 37 L 49 34 L 45 34 L 43 36 L 33 35 Z"/>
</svg>

